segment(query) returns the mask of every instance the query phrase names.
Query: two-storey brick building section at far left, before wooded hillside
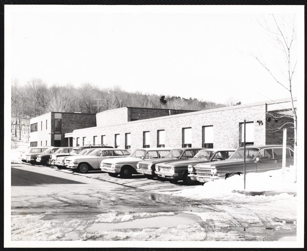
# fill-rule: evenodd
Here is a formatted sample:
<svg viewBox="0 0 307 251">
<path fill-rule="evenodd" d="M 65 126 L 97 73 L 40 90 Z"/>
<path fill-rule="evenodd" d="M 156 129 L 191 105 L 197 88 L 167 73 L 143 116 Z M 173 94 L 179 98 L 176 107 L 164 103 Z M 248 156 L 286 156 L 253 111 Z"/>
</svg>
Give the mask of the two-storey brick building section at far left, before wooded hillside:
<svg viewBox="0 0 307 251">
<path fill-rule="evenodd" d="M 30 119 L 30 146 L 72 146 L 65 133 L 96 126 L 96 114 L 49 112 Z"/>
</svg>

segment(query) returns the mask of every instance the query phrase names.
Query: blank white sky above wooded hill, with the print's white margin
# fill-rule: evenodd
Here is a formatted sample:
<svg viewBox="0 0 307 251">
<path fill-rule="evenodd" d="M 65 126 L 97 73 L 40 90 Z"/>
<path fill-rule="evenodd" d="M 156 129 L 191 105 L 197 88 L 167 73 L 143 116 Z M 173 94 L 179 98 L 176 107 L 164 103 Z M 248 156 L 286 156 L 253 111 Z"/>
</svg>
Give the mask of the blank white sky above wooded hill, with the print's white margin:
<svg viewBox="0 0 307 251">
<path fill-rule="evenodd" d="M 218 103 L 285 98 L 287 91 L 250 54 L 261 52 L 282 78 L 283 57 L 256 20 L 292 12 L 299 60 L 294 95 L 304 83 L 303 7 L 10 5 L 5 11 L 9 82 L 119 85 Z"/>
</svg>

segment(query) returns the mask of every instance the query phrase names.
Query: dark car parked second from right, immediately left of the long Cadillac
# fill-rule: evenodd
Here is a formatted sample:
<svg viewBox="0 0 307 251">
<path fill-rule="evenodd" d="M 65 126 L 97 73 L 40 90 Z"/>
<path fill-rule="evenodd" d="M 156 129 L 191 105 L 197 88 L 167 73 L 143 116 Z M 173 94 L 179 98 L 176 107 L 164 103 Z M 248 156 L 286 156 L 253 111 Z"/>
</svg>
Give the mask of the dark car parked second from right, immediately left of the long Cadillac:
<svg viewBox="0 0 307 251">
<path fill-rule="evenodd" d="M 220 161 L 234 153 L 236 149 L 223 148 L 223 149 L 205 149 L 200 150 L 193 158 L 188 160 L 181 160 L 169 163 L 161 163 L 156 165 L 155 174 L 159 177 L 168 179 L 170 182 L 177 182 L 183 180 L 185 185 L 193 185 L 197 180 L 192 180 L 188 173 L 188 166 L 197 163 L 204 163 L 210 161 Z"/>
</svg>

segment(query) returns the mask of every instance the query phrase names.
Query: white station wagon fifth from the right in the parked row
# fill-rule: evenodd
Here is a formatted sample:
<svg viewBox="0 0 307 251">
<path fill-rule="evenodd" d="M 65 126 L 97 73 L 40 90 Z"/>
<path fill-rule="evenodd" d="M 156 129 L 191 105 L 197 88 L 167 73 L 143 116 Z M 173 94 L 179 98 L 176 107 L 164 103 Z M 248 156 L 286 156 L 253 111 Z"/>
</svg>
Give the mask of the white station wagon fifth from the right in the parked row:
<svg viewBox="0 0 307 251">
<path fill-rule="evenodd" d="M 87 155 L 72 156 L 65 159 L 65 166 L 73 172 L 87 173 L 89 170 L 99 170 L 104 159 L 123 158 L 130 155 L 126 149 L 97 148 Z"/>
</svg>

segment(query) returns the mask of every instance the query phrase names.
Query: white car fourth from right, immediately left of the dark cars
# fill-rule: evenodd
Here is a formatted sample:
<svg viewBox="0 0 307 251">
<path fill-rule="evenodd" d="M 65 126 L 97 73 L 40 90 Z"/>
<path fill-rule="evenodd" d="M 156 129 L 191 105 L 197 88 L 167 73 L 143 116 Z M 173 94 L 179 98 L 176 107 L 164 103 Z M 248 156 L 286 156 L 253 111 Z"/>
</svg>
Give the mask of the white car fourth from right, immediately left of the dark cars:
<svg viewBox="0 0 307 251">
<path fill-rule="evenodd" d="M 101 161 L 100 169 L 108 172 L 112 177 L 121 176 L 128 179 L 137 173 L 137 163 L 143 159 L 164 158 L 172 148 L 140 148 L 132 152 L 127 158 L 105 159 Z"/>
</svg>

